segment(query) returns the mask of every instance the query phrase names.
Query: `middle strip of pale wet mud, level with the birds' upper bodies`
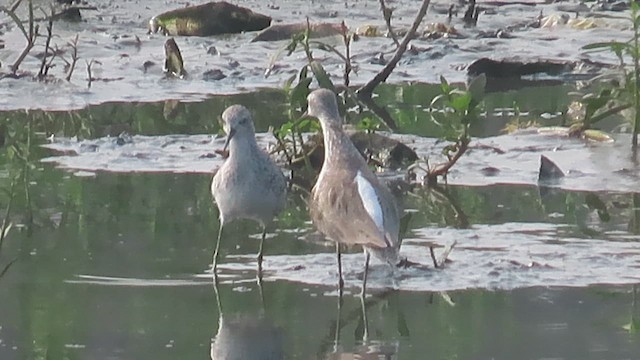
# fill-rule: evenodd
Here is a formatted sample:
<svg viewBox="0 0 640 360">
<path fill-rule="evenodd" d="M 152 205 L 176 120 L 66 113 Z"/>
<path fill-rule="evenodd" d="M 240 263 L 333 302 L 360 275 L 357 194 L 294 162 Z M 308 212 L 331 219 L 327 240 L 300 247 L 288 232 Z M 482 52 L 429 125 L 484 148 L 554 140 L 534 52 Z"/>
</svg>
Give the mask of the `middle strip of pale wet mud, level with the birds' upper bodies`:
<svg viewBox="0 0 640 360">
<path fill-rule="evenodd" d="M 442 143 L 415 135 L 387 134 L 415 150 L 420 158 L 443 161 Z M 469 151 L 451 169 L 456 185 L 537 185 L 540 155 L 554 161 L 565 176 L 551 187 L 566 190 L 638 192 L 640 170 L 629 151 L 630 136 L 613 143 L 593 143 L 535 130 L 472 141 Z M 272 134 L 257 134 L 261 147 L 273 148 Z M 95 140 L 56 138 L 44 145 L 61 156 L 42 161 L 72 171 L 211 173 L 222 158 L 214 153 L 224 143 L 212 135 L 106 137 Z M 437 160 L 441 159 L 441 160 Z M 423 175 L 419 171 L 418 176 Z"/>
</svg>

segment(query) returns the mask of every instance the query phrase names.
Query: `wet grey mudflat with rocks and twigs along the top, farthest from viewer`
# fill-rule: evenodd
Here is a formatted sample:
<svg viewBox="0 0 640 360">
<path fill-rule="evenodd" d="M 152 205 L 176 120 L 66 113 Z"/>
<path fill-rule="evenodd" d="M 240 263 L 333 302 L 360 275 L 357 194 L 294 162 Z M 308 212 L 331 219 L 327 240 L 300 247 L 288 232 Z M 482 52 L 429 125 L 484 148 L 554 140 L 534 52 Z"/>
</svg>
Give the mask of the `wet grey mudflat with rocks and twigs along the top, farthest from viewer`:
<svg viewBox="0 0 640 360">
<path fill-rule="evenodd" d="M 356 1 L 346 6 L 341 1 L 323 4 L 288 1 L 277 6 L 257 1 L 239 1 L 237 4 L 272 17 L 275 24 L 300 22 L 309 17 L 315 22 L 339 23 L 344 20 L 353 31 L 363 26 L 374 26 L 380 34 L 385 32 L 384 20 L 376 2 Z M 402 0 L 393 5 L 394 27 L 399 31 L 408 28 L 419 4 Z M 578 7 L 577 3 L 570 5 L 487 3 L 482 5 L 476 27 L 465 27 L 460 13 L 454 16 L 451 23 L 456 28 L 457 36 L 427 36 L 424 35 L 425 29 L 430 23 L 447 22 L 449 2 L 436 1 L 421 27 L 423 36 L 412 42 L 413 51 L 405 55 L 389 82 L 433 83 L 438 81 L 440 75 L 450 81 L 464 81 L 466 66 L 482 57 L 615 63 L 612 55 L 588 53 L 580 48 L 592 42 L 629 37 L 629 24 L 623 19 L 626 13 L 590 11 Z M 270 76 L 265 77 L 269 58 L 283 46 L 283 42 L 252 43 L 250 41 L 255 33 L 179 36 L 175 40 L 182 50 L 185 68 L 190 76 L 184 80 L 165 79 L 162 64 L 166 38 L 160 34 L 148 35 L 147 23 L 153 15 L 181 6 L 176 1 L 154 3 L 153 7 L 112 1 L 96 4 L 96 10 L 82 11 L 80 22 L 55 22 L 54 34 L 59 38 L 54 38 L 52 45 L 65 51 L 67 57 L 70 51 L 67 43 L 76 34 L 79 35 L 77 49 L 80 59 L 71 81 L 43 84 L 27 78 L 4 78 L 0 80 L 0 109 L 65 110 L 106 101 L 199 101 L 214 94 L 281 87 L 285 79 L 295 74 L 306 62 L 301 53 L 294 53 L 279 60 Z M 563 18 L 561 15 L 573 17 L 576 10 L 580 17 L 592 21 L 593 26 L 550 20 L 542 24 L 539 18 L 540 12 L 543 16 L 558 14 L 556 17 L 559 16 L 559 19 Z M 3 25 L 0 40 L 4 43 L 4 48 L 0 49 L 0 69 L 6 71 L 22 51 L 25 39 L 6 14 L 0 17 L 0 24 Z M 499 31 L 510 36 L 497 36 Z M 328 41 L 340 48 L 339 41 Z M 391 57 L 393 50 L 394 45 L 389 38 L 361 36 L 352 46 L 351 53 L 357 69 L 352 75 L 352 84 L 368 81 L 382 68 L 383 60 Z M 36 56 L 38 52 L 42 52 L 42 49 L 36 46 L 20 68 L 37 73 L 40 65 L 40 59 Z M 340 82 L 343 71 L 341 60 L 319 50 L 314 54 L 335 81 Z M 88 88 L 86 63 L 92 60 L 93 80 Z M 64 79 L 63 65 L 61 62 L 52 68 L 50 74 L 56 79 Z M 212 71 L 224 77 L 206 76 Z M 574 73 L 581 71 L 591 72 L 592 69 L 580 68 Z M 569 76 L 568 79 L 573 78 Z"/>
</svg>

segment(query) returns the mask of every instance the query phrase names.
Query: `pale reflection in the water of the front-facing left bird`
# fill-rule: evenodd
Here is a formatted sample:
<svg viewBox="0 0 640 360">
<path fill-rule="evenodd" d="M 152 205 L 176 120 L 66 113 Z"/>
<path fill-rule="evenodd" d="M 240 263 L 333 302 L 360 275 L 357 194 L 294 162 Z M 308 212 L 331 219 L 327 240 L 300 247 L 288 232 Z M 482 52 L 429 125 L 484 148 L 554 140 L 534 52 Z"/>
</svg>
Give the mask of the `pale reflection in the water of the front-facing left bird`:
<svg viewBox="0 0 640 360">
<path fill-rule="evenodd" d="M 284 334 L 265 317 L 262 282 L 258 282 L 262 309 L 259 314 L 223 312 L 218 281 L 213 285 L 218 306 L 218 332 L 211 342 L 211 360 L 282 360 Z"/>
</svg>

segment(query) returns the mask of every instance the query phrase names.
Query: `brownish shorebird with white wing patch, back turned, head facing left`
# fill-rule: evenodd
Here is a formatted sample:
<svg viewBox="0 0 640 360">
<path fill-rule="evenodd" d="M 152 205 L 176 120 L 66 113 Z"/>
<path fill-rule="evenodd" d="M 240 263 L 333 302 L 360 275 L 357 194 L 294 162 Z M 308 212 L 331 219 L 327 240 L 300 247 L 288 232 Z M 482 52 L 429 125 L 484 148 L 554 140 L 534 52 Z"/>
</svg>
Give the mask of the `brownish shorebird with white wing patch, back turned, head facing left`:
<svg viewBox="0 0 640 360">
<path fill-rule="evenodd" d="M 320 121 L 324 134 L 324 164 L 311 192 L 311 220 L 336 242 L 340 293 L 344 285 L 340 244 L 364 247 L 364 296 L 371 254 L 391 266 L 399 263 L 400 210 L 343 132 L 335 94 L 319 89 L 308 100 L 307 113 Z"/>
</svg>

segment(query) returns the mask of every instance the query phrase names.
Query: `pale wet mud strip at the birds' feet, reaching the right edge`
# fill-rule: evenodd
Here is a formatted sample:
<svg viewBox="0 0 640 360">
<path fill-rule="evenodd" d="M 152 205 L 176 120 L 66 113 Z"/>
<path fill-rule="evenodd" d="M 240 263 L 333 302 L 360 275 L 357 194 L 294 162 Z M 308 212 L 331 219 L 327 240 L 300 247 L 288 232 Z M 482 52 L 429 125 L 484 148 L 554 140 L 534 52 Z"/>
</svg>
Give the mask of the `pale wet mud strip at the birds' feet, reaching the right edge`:
<svg viewBox="0 0 640 360">
<path fill-rule="evenodd" d="M 505 223 L 472 229 L 418 229 L 405 239 L 401 253 L 419 268 L 394 269 L 374 260 L 369 272 L 371 289 L 453 291 L 463 289 L 510 290 L 535 286 L 589 286 L 640 282 L 640 246 L 618 241 L 615 233 L 602 239 L 568 237 L 564 225 Z M 428 240 L 427 240 L 428 239 Z M 434 269 L 428 245 L 436 252 L 453 240 L 457 245 L 446 267 Z M 554 241 L 562 239 L 562 241 Z M 345 287 L 357 293 L 364 257 L 343 254 Z M 255 278 L 253 255 L 227 257 L 220 267 L 228 281 Z M 283 280 L 335 287 L 335 254 L 274 255 L 264 259 L 266 281 Z M 201 275 L 204 276 L 204 275 Z M 334 293 L 331 293 L 334 294 Z M 335 294 L 334 294 L 335 295 Z"/>
</svg>

